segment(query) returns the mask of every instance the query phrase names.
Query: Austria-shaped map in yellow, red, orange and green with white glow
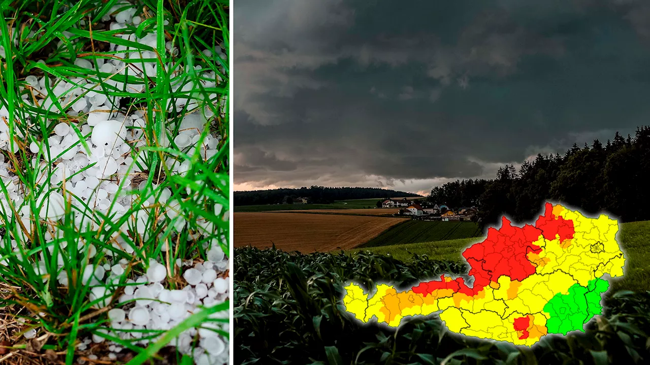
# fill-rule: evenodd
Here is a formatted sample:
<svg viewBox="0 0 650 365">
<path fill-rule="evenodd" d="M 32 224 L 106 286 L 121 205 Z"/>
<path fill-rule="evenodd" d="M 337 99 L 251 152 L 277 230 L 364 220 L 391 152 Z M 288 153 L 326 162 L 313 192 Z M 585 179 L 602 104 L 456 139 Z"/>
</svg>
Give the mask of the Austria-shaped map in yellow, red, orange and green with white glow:
<svg viewBox="0 0 650 365">
<path fill-rule="evenodd" d="M 601 314 L 609 288 L 603 277 L 623 276 L 618 229 L 604 214 L 587 218 L 547 203 L 534 226 L 513 227 L 503 217 L 499 229 L 463 251 L 471 286 L 442 275 L 403 291 L 378 284 L 369 294 L 350 283 L 343 302 L 362 322 L 397 327 L 408 316 L 440 312 L 454 333 L 532 346 L 545 334 L 584 331 Z"/>
</svg>

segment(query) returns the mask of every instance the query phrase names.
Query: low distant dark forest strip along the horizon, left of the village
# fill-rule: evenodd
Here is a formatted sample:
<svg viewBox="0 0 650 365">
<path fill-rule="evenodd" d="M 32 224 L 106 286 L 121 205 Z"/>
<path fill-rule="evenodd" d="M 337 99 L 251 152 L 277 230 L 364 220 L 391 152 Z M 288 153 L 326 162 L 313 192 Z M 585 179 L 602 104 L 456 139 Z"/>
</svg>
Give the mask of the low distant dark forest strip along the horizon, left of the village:
<svg viewBox="0 0 650 365">
<path fill-rule="evenodd" d="M 380 188 L 326 188 L 311 186 L 300 189 L 252 190 L 250 192 L 235 192 L 235 205 L 279 204 L 287 198 L 304 197 L 313 204 L 330 204 L 337 200 L 371 199 L 389 197 L 420 196 L 412 193 L 396 192 Z"/>
</svg>

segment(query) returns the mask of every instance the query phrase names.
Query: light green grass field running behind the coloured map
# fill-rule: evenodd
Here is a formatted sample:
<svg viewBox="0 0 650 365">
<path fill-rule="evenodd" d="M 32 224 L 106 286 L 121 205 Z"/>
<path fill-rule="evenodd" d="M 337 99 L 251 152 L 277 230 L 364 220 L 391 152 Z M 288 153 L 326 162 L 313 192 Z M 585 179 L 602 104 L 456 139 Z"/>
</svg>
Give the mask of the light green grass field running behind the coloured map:
<svg viewBox="0 0 650 365">
<path fill-rule="evenodd" d="M 650 290 L 650 266 L 647 264 L 650 262 L 650 245 L 648 244 L 650 242 L 650 221 L 623 223 L 620 237 L 627 264 L 623 278 L 612 281 L 612 292 L 616 290 L 632 290 L 634 292 Z M 381 255 L 391 255 L 402 261 L 411 260 L 414 254 L 428 255 L 429 258 L 437 260 L 461 261 L 463 260 L 461 257 L 463 249 L 481 240 L 483 240 L 483 237 L 395 244 L 381 247 L 363 247 L 349 252 L 371 251 Z"/>
</svg>

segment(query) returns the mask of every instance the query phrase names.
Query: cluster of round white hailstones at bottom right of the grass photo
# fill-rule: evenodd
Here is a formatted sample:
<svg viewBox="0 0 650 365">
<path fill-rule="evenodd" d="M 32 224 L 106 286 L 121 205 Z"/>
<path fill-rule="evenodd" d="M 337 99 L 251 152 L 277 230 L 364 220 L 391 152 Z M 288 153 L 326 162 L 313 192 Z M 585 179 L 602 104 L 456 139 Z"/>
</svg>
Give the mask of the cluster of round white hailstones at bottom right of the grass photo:
<svg viewBox="0 0 650 365">
<path fill-rule="evenodd" d="M 168 276 L 164 264 L 151 260 L 146 275 L 127 280 L 124 294 L 119 297 L 119 303 L 126 303 L 122 307 L 109 310 L 110 327 L 103 329 L 103 333 L 116 336 L 122 340 L 132 340 L 135 344 L 148 345 L 155 342 L 159 336 L 150 338 L 147 331 L 168 330 L 181 323 L 192 313 L 200 309 L 199 306 L 211 307 L 224 303 L 228 298 L 229 281 L 219 276 L 228 267 L 228 260 L 220 247 L 212 247 L 207 252 L 208 260 L 199 264 L 192 262 L 181 262 L 177 260 L 176 266 L 185 267 L 183 278 L 187 285 L 169 290 L 161 283 Z M 118 282 L 124 272 L 127 262 L 122 260 L 110 266 L 98 266 L 87 268 L 84 272 L 84 280 L 90 279 L 91 284 L 103 281 L 108 273 L 107 282 Z M 86 275 L 86 273 L 90 273 Z M 106 286 L 95 286 L 90 294 L 91 301 L 110 296 L 110 288 Z M 100 300 L 98 307 L 108 305 L 108 299 Z M 216 312 L 210 316 L 212 319 L 227 319 L 228 312 Z M 228 323 L 209 321 L 203 323 L 198 329 L 188 329 L 181 333 L 173 342 L 178 351 L 183 354 L 191 354 L 196 364 L 227 364 L 228 343 L 220 334 L 213 331 L 218 329 L 225 333 L 229 330 Z M 198 336 L 198 343 L 192 344 Z M 85 349 L 87 342 L 82 342 L 80 349 Z M 104 342 L 102 336 L 92 336 L 92 341 Z M 115 357 L 115 353 L 122 349 L 116 344 L 110 345 L 109 357 Z M 112 356 L 111 356 L 112 355 Z"/>
</svg>

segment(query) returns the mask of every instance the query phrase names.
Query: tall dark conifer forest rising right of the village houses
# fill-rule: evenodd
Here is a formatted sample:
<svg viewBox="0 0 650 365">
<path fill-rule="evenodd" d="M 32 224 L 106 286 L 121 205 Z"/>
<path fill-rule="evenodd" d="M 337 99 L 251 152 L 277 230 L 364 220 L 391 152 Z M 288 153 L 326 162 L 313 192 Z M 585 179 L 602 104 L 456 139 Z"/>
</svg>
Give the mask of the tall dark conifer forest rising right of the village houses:
<svg viewBox="0 0 650 365">
<path fill-rule="evenodd" d="M 517 170 L 499 169 L 495 179 L 454 181 L 427 198 L 449 207 L 476 205 L 482 225 L 502 214 L 530 221 L 544 201 L 559 201 L 588 214 L 609 212 L 622 221 L 650 220 L 650 127 L 624 138 L 616 132 L 603 145 L 574 144 L 564 155 L 537 155 Z"/>
</svg>

